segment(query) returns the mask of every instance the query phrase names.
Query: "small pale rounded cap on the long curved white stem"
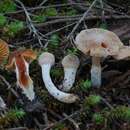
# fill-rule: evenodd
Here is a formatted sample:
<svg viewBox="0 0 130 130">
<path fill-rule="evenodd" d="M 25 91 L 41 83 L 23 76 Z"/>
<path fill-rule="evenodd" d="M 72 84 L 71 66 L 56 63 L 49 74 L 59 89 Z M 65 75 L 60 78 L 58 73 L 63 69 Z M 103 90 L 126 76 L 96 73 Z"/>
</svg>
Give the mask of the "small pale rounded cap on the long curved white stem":
<svg viewBox="0 0 130 130">
<path fill-rule="evenodd" d="M 49 52 L 43 52 L 39 58 L 38 58 L 38 62 L 39 65 L 43 65 L 43 64 L 50 64 L 50 65 L 54 65 L 55 63 L 55 57 L 53 54 L 49 53 Z"/>
</svg>

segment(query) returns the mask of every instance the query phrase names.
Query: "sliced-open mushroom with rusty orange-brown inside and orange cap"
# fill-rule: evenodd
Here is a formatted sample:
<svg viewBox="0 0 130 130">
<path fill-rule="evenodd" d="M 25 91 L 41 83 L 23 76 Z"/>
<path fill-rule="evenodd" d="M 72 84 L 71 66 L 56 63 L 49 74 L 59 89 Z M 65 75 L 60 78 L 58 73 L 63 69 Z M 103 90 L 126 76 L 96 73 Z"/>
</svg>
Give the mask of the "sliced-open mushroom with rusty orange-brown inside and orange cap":
<svg viewBox="0 0 130 130">
<path fill-rule="evenodd" d="M 36 54 L 30 50 L 17 50 L 9 56 L 7 69 L 15 70 L 17 85 L 22 89 L 23 94 L 32 101 L 35 98 L 34 86 L 29 76 L 29 63 L 36 59 Z"/>
</svg>

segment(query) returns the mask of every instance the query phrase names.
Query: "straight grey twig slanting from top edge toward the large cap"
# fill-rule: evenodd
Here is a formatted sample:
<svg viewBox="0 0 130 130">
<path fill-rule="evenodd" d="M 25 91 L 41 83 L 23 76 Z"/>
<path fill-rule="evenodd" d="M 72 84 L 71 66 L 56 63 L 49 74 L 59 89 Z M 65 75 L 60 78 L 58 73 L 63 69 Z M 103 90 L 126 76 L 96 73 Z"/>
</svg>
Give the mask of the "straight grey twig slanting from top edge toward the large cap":
<svg viewBox="0 0 130 130">
<path fill-rule="evenodd" d="M 71 31 L 71 33 L 68 35 L 67 40 L 70 39 L 70 37 L 76 31 L 76 29 L 81 24 L 81 22 L 84 21 L 85 17 L 88 15 L 89 11 L 92 9 L 92 7 L 95 5 L 96 2 L 97 2 L 97 0 L 94 0 L 93 3 L 91 4 L 91 6 L 88 8 L 88 10 L 83 14 L 83 16 L 81 17 L 81 19 L 77 22 L 77 24 L 74 26 L 74 28 Z"/>
</svg>

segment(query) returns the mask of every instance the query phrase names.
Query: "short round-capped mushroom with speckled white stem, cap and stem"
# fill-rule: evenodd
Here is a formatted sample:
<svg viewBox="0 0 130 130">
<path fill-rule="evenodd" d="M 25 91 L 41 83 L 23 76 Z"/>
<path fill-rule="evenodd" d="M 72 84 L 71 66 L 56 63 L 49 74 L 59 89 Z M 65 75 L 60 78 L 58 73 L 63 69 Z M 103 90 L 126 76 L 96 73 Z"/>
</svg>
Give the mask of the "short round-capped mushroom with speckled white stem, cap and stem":
<svg viewBox="0 0 130 130">
<path fill-rule="evenodd" d="M 75 82 L 76 72 L 79 67 L 79 59 L 77 56 L 69 54 L 63 58 L 62 66 L 64 68 L 64 80 L 59 88 L 67 92 L 72 88 Z"/>
</svg>

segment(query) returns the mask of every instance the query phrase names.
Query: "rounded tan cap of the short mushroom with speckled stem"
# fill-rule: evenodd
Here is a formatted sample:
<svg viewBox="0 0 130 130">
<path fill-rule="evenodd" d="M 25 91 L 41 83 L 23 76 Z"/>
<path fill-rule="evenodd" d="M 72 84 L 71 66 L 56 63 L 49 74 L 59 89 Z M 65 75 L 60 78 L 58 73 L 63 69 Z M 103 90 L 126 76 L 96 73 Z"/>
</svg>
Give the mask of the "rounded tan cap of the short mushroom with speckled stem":
<svg viewBox="0 0 130 130">
<path fill-rule="evenodd" d="M 79 58 L 73 54 L 65 56 L 62 60 L 62 65 L 64 68 L 78 68 L 79 63 Z"/>
</svg>

